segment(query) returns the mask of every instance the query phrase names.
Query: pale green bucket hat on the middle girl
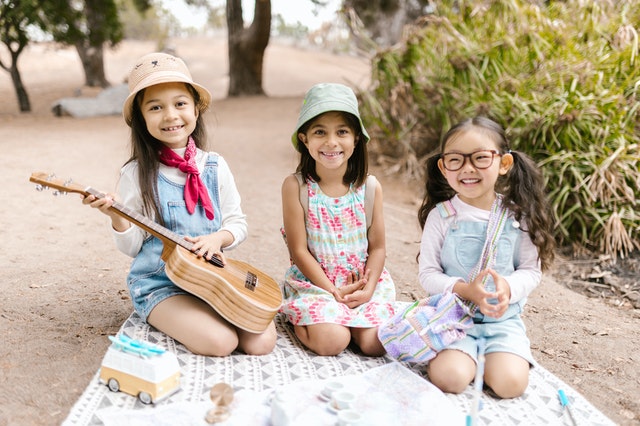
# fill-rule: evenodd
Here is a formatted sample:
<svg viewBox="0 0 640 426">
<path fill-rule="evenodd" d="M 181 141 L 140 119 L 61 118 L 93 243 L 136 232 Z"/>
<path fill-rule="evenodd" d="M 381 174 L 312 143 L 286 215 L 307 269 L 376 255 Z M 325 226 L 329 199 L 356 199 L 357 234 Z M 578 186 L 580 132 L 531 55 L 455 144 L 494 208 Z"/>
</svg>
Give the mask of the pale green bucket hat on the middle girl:
<svg viewBox="0 0 640 426">
<path fill-rule="evenodd" d="M 309 89 L 302 102 L 296 131 L 291 136 L 291 142 L 296 150 L 298 149 L 298 132 L 304 123 L 329 111 L 343 111 L 355 115 L 360 122 L 360 130 L 365 137 L 365 142 L 369 142 L 369 134 L 362 124 L 358 100 L 353 90 L 343 84 L 320 83 Z"/>
</svg>

